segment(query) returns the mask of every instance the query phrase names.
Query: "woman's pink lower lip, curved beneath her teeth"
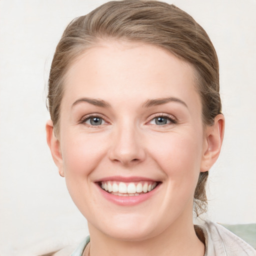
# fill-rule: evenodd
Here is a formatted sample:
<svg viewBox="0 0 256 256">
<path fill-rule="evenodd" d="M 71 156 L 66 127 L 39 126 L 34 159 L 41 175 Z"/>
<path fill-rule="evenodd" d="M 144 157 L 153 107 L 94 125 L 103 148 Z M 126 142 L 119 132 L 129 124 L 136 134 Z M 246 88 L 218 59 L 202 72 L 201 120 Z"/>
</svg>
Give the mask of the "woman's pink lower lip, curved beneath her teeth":
<svg viewBox="0 0 256 256">
<path fill-rule="evenodd" d="M 132 206 L 132 205 L 139 204 L 139 203 L 149 199 L 151 196 L 153 196 L 156 193 L 156 191 L 158 190 L 160 184 L 158 184 L 153 190 L 151 190 L 147 193 L 140 194 L 140 195 L 133 195 L 133 196 L 114 195 L 114 194 L 106 192 L 101 187 L 99 187 L 99 185 L 96 184 L 96 186 L 98 187 L 102 196 L 105 199 L 107 199 L 108 201 L 113 202 L 118 205 L 122 205 L 122 206 Z"/>
</svg>

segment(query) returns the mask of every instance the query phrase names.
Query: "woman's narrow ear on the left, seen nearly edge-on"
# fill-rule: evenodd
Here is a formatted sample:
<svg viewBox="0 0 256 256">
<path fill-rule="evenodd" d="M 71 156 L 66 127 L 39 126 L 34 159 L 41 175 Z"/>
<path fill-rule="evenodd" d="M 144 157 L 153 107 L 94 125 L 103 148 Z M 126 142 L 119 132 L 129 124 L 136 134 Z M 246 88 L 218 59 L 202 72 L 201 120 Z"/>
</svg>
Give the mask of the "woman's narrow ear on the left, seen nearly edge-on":
<svg viewBox="0 0 256 256">
<path fill-rule="evenodd" d="M 46 123 L 46 139 L 47 144 L 50 148 L 51 156 L 53 158 L 53 161 L 55 162 L 56 166 L 58 167 L 58 173 L 60 176 L 64 177 L 63 172 L 63 161 L 62 161 L 62 155 L 60 151 L 60 143 L 57 139 L 56 135 L 53 131 L 53 123 L 51 120 L 48 120 Z"/>
</svg>

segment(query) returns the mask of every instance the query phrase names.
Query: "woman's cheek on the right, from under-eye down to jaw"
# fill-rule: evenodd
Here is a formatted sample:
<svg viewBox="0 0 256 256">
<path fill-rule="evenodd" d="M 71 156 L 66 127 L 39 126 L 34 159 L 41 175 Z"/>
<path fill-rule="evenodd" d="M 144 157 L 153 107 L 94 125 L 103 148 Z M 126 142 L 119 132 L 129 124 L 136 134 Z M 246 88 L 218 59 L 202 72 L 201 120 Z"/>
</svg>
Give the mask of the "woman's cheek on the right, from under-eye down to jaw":
<svg viewBox="0 0 256 256">
<path fill-rule="evenodd" d="M 166 136 L 158 140 L 157 145 L 151 144 L 151 156 L 168 180 L 164 183 L 168 191 L 164 194 L 165 207 L 173 210 L 172 206 L 176 205 L 175 209 L 181 212 L 186 205 L 191 205 L 200 172 L 201 145 L 202 138 L 196 133 L 192 136 L 185 132 Z"/>
</svg>

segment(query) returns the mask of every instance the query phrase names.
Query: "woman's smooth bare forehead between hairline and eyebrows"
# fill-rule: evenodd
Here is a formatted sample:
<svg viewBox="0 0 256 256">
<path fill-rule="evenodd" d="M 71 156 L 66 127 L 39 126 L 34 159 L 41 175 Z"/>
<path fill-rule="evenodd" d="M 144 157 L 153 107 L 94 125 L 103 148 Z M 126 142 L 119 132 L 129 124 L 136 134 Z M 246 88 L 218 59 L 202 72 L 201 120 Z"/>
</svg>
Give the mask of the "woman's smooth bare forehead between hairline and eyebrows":
<svg viewBox="0 0 256 256">
<path fill-rule="evenodd" d="M 71 64 L 64 97 L 73 97 L 72 101 L 78 96 L 143 100 L 169 94 L 198 100 L 194 81 L 192 65 L 163 48 L 109 40 L 86 49 Z"/>
</svg>

